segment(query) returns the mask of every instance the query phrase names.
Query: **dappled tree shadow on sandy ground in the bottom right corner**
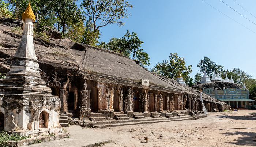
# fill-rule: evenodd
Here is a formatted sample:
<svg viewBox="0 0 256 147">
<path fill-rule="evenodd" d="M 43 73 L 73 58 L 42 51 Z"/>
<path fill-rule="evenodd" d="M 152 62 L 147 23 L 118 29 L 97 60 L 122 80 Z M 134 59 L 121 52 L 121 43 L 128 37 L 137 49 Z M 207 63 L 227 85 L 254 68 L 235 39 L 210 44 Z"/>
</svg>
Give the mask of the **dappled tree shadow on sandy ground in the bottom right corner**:
<svg viewBox="0 0 256 147">
<path fill-rule="evenodd" d="M 237 137 L 237 139 L 227 141 L 227 143 L 239 145 L 239 146 L 256 146 L 255 142 L 255 135 L 254 132 L 241 132 L 241 131 L 235 131 L 235 132 L 226 132 L 223 133 L 223 135 L 226 136 L 233 136 L 233 135 L 242 135 L 242 137 Z"/>
</svg>

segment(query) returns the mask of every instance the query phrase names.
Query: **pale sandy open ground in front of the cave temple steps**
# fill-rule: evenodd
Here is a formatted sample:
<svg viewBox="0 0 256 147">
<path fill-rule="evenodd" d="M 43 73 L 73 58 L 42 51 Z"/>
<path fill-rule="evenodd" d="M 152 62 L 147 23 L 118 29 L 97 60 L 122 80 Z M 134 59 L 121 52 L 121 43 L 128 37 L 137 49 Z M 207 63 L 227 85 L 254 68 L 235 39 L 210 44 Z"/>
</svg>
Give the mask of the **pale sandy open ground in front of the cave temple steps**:
<svg viewBox="0 0 256 147">
<path fill-rule="evenodd" d="M 94 128 L 112 139 L 102 147 L 256 146 L 256 110 L 209 112 L 206 118 L 122 127 Z M 145 143 L 144 136 L 149 141 Z"/>
</svg>

